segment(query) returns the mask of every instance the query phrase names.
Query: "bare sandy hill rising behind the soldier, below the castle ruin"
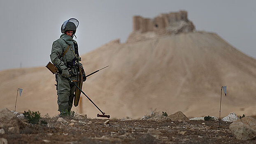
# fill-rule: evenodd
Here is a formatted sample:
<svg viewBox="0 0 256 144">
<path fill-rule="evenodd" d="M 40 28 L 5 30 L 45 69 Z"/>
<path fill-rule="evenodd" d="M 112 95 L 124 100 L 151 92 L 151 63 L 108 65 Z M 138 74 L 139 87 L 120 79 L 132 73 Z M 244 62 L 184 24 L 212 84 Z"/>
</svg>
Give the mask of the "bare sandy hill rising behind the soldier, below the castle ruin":
<svg viewBox="0 0 256 144">
<path fill-rule="evenodd" d="M 227 85 L 221 115 L 256 115 L 256 60 L 215 33 L 193 32 L 135 43 L 109 43 L 82 56 L 86 74 L 110 65 L 84 83 L 84 92 L 112 118 L 140 118 L 151 109 L 178 110 L 188 117 L 219 115 L 221 86 Z M 55 78 L 45 67 L 0 72 L 0 108 L 58 114 Z M 82 95 L 81 95 L 82 96 Z M 98 110 L 84 96 L 82 111 Z M 73 107 L 74 111 L 78 107 Z"/>
</svg>

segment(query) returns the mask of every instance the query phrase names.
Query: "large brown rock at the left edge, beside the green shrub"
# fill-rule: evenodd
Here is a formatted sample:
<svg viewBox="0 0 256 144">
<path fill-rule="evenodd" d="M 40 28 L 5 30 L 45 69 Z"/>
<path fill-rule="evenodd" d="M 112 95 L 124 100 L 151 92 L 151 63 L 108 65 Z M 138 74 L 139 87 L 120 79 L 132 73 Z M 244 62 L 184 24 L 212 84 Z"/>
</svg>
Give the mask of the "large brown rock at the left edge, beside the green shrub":
<svg viewBox="0 0 256 144">
<path fill-rule="evenodd" d="M 15 116 L 9 109 L 0 109 L 0 123 L 1 127 L 16 127 L 18 129 L 23 128 L 26 124 Z"/>
</svg>

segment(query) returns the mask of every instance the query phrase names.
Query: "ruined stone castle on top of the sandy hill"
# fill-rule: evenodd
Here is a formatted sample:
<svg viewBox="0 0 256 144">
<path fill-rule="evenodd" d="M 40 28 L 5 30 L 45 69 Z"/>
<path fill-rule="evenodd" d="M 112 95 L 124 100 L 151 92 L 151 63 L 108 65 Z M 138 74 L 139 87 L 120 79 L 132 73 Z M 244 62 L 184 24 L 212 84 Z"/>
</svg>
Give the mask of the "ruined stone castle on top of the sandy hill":
<svg viewBox="0 0 256 144">
<path fill-rule="evenodd" d="M 188 20 L 186 11 L 160 14 L 154 19 L 133 16 L 133 32 L 127 42 L 137 42 L 157 36 L 187 33 L 195 30 L 195 26 Z"/>
</svg>

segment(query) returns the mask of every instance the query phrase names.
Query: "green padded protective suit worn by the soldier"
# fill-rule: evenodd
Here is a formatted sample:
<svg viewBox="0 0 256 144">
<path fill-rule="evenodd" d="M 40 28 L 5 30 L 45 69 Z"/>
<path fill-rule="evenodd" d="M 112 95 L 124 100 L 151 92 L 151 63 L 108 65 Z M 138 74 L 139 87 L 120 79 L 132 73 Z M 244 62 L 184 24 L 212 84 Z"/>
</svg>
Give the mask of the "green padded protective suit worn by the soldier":
<svg viewBox="0 0 256 144">
<path fill-rule="evenodd" d="M 71 71 L 68 73 L 70 74 L 70 79 L 77 81 L 78 80 L 78 72 L 77 68 L 78 65 L 70 67 L 70 65 L 67 65 L 68 62 L 71 62 L 75 55 L 73 53 L 74 51 L 74 43 L 72 41 L 72 37 L 62 34 L 59 39 L 53 42 L 52 49 L 51 49 L 51 62 L 55 65 L 58 65 L 61 70 L 67 72 L 68 68 L 70 68 Z M 63 53 L 68 48 L 68 45 L 70 45 L 69 49 L 63 56 Z M 68 81 L 66 78 L 66 75 L 58 73 L 58 111 L 64 112 L 66 110 L 71 111 L 72 103 L 74 100 L 74 91 L 76 87 Z M 68 77 L 68 76 L 67 76 Z M 77 82 L 76 82 L 77 83 Z"/>
</svg>

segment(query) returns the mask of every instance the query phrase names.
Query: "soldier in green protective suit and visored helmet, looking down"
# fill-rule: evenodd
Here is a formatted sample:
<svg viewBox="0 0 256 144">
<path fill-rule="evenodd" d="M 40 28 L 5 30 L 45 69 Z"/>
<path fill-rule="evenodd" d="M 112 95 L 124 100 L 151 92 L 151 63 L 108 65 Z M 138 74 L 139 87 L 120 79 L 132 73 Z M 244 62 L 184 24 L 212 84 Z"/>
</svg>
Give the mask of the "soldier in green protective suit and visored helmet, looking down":
<svg viewBox="0 0 256 144">
<path fill-rule="evenodd" d="M 79 58 L 78 45 L 73 39 L 78 24 L 79 21 L 74 18 L 65 21 L 61 26 L 61 33 L 63 34 L 59 39 L 53 42 L 51 49 L 50 58 L 52 63 L 58 65 L 62 70 L 62 73 L 58 73 L 56 78 L 58 94 L 57 103 L 60 116 L 64 115 L 67 111 L 70 113 L 74 97 L 75 95 L 78 95 L 74 94 L 76 87 L 68 81 L 67 78 L 70 77 L 70 79 L 72 79 L 75 84 L 79 85 L 80 88 L 82 81 L 86 80 L 84 69 L 81 63 L 79 63 L 81 58 Z M 77 106 L 79 99 L 78 101 L 75 100 L 75 102 L 77 103 L 74 103 L 74 105 Z"/>
</svg>

